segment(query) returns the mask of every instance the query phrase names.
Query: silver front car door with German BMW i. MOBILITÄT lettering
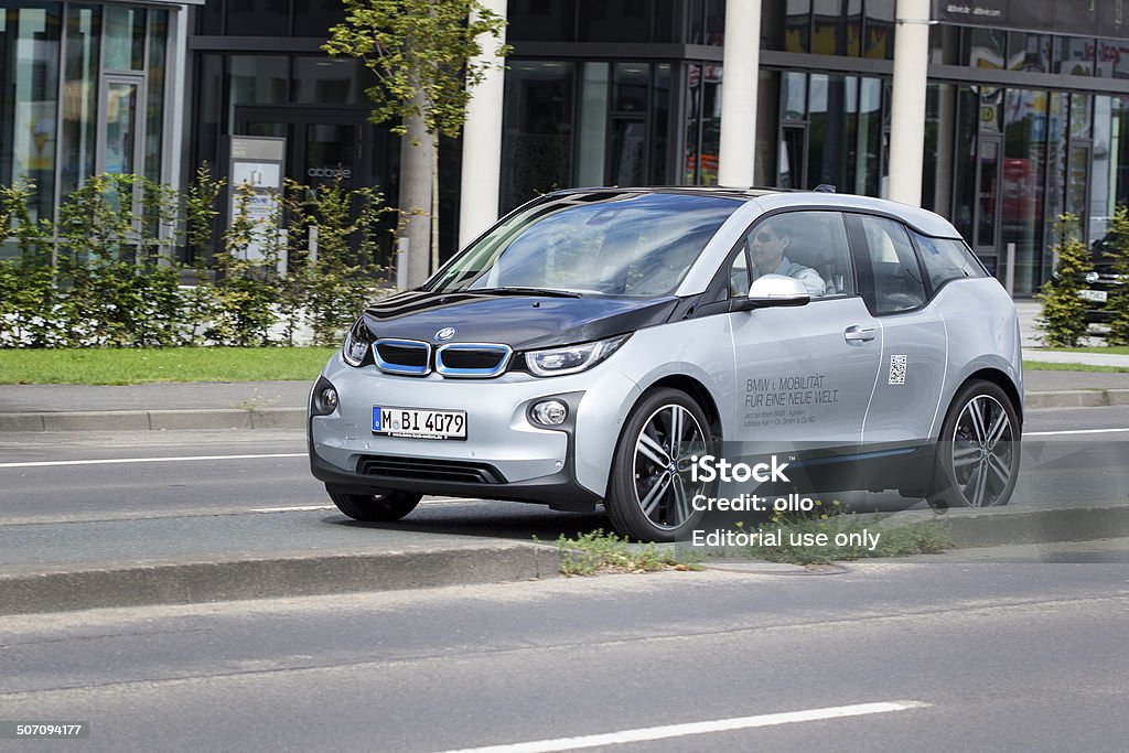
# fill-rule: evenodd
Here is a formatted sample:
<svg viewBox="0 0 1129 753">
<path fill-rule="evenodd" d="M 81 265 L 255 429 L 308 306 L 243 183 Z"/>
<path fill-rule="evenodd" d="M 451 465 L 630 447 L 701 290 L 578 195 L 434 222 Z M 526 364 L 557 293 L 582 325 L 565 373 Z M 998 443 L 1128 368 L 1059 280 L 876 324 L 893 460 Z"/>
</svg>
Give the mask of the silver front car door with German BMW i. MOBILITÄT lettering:
<svg viewBox="0 0 1129 753">
<path fill-rule="evenodd" d="M 786 237 L 785 261 L 776 271 L 787 269 L 803 280 L 809 274 L 800 268 L 815 270 L 824 294 L 805 306 L 729 314 L 742 453 L 855 453 L 878 371 L 882 330 L 856 294 L 842 214 L 805 210 L 759 220 L 730 263 L 733 297 L 747 295 L 756 273 L 758 236 L 764 244 Z"/>
</svg>

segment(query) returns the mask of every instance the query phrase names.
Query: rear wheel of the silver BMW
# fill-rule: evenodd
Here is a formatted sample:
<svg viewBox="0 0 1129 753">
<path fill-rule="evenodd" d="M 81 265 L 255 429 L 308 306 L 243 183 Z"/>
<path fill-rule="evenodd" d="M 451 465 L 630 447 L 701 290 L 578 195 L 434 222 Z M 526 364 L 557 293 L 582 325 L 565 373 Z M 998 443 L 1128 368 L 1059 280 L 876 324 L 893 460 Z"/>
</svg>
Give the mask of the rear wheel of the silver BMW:
<svg viewBox="0 0 1129 753">
<path fill-rule="evenodd" d="M 970 382 L 940 428 L 933 487 L 935 509 L 1007 505 L 1019 476 L 1019 422 L 1007 394 L 991 382 Z"/>
</svg>

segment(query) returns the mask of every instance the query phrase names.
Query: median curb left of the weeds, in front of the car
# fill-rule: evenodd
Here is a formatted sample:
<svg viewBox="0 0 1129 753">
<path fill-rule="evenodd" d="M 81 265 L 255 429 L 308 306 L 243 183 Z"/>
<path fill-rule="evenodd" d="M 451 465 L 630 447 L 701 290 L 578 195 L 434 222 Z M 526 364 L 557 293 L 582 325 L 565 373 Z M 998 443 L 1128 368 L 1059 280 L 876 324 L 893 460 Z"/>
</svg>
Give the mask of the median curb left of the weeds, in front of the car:
<svg viewBox="0 0 1129 753">
<path fill-rule="evenodd" d="M 370 552 L 0 575 L 0 614 L 199 604 L 469 586 L 555 577 L 554 546 L 525 542 L 431 552 Z"/>
</svg>

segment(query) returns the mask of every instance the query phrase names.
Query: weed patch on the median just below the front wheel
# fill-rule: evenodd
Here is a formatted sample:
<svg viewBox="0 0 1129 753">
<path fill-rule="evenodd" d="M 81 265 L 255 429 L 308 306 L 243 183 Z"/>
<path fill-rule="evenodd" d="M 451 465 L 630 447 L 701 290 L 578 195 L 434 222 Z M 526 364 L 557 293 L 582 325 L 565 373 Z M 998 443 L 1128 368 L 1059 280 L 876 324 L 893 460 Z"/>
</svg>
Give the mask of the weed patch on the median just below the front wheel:
<svg viewBox="0 0 1129 753">
<path fill-rule="evenodd" d="M 601 572 L 655 572 L 657 570 L 701 570 L 695 552 L 656 544 L 633 544 L 614 533 L 597 528 L 592 533 L 557 540 L 561 573 L 592 576 Z"/>
</svg>

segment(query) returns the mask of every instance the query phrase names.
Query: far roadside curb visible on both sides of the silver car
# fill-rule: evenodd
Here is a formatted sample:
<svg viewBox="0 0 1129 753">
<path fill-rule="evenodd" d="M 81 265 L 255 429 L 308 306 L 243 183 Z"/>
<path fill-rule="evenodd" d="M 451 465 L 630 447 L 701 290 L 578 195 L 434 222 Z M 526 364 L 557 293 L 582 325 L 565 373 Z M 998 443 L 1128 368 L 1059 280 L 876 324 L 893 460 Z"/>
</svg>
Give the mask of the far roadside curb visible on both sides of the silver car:
<svg viewBox="0 0 1129 753">
<path fill-rule="evenodd" d="M 1129 389 L 1029 392 L 1026 410 L 1129 405 Z M 305 408 L 257 410 L 76 411 L 0 413 L 0 431 L 165 431 L 180 429 L 304 429 Z"/>
</svg>

